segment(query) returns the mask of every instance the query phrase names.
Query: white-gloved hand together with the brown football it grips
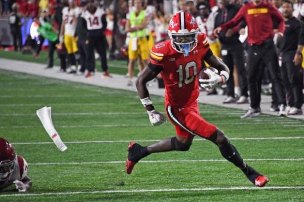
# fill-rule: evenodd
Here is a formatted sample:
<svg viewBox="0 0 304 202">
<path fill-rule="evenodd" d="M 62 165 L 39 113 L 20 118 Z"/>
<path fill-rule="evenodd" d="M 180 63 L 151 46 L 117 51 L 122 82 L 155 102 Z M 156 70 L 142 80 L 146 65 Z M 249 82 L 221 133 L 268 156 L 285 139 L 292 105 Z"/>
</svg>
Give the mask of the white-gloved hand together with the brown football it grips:
<svg viewBox="0 0 304 202">
<path fill-rule="evenodd" d="M 218 70 L 209 67 L 204 68 L 199 73 L 199 83 L 202 88 L 213 89 L 225 83 L 225 80 L 218 74 Z"/>
</svg>

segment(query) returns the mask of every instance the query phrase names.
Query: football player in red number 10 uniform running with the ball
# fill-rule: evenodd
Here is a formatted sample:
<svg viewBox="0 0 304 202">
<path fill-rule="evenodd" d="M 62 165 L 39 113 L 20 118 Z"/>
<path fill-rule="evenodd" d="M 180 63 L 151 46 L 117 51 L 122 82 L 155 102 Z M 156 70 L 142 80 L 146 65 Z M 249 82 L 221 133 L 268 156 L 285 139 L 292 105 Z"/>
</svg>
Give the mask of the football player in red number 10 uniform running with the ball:
<svg viewBox="0 0 304 202">
<path fill-rule="evenodd" d="M 168 34 L 170 40 L 156 44 L 150 51 L 150 62 L 138 77 L 136 87 L 151 124 L 163 124 L 166 117 L 156 111 L 146 88 L 146 83 L 161 73 L 166 88 L 166 112 L 175 126 L 176 137 L 149 146 L 131 142 L 126 161 L 127 174 L 131 174 L 135 164 L 150 153 L 187 151 L 194 136 L 198 136 L 216 144 L 222 156 L 239 167 L 253 184 L 264 186 L 269 181 L 268 178 L 248 166 L 225 134 L 200 116 L 196 75 L 200 72 L 203 61 L 219 71 L 219 74 L 211 73 L 211 77 L 205 80 L 205 87 L 209 88 L 226 82 L 229 78 L 228 67 L 212 54 L 206 34 L 199 32 L 195 18 L 188 13 L 180 12 L 173 16 Z"/>
</svg>

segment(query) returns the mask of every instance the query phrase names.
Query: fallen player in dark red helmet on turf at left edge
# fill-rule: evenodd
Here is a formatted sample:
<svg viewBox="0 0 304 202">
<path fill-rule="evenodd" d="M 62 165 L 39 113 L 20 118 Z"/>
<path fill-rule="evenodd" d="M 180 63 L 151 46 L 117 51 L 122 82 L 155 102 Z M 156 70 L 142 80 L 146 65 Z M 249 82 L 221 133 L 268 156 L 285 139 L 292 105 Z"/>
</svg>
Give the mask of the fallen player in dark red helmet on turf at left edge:
<svg viewBox="0 0 304 202">
<path fill-rule="evenodd" d="M 0 190 L 16 185 L 19 192 L 24 192 L 32 186 L 27 176 L 27 163 L 22 156 L 15 153 L 13 146 L 4 138 L 0 138 Z"/>
</svg>

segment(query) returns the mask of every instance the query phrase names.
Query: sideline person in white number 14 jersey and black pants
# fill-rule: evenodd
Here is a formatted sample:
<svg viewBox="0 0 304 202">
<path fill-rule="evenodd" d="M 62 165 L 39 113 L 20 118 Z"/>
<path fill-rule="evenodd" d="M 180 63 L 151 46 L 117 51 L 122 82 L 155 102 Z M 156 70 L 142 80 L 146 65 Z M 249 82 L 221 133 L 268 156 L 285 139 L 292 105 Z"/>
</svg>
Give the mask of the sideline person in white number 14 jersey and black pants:
<svg viewBox="0 0 304 202">
<path fill-rule="evenodd" d="M 87 4 L 87 10 L 82 13 L 83 18 L 87 22 L 87 29 L 88 29 L 88 57 L 87 57 L 87 69 L 88 73 L 86 77 L 90 77 L 94 74 L 94 49 L 96 48 L 100 60 L 101 60 L 101 67 L 102 67 L 102 77 L 111 77 L 110 74 L 107 72 L 107 61 L 106 61 L 106 43 L 105 43 L 105 36 L 104 30 L 107 26 L 105 12 L 103 9 L 99 8 L 98 6 L 94 5 L 93 0 L 89 0 Z"/>
</svg>

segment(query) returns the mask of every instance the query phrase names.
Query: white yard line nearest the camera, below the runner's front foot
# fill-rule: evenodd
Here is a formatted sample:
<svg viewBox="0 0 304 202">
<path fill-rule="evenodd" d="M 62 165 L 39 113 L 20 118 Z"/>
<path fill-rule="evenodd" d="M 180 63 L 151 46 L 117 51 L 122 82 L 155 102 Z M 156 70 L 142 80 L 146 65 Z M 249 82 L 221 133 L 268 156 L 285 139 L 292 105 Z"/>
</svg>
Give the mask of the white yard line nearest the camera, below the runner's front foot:
<svg viewBox="0 0 304 202">
<path fill-rule="evenodd" d="M 167 189 L 133 189 L 133 190 L 103 190 L 103 191 L 71 191 L 71 192 L 45 192 L 45 193 L 19 193 L 2 194 L 0 197 L 10 196 L 41 196 L 41 195 L 74 195 L 74 194 L 102 194 L 102 193 L 143 193 L 143 192 L 176 192 L 176 191 L 219 191 L 219 190 L 280 190 L 304 189 L 304 186 L 266 186 L 266 187 L 206 187 L 206 188 L 167 188 Z"/>
</svg>

